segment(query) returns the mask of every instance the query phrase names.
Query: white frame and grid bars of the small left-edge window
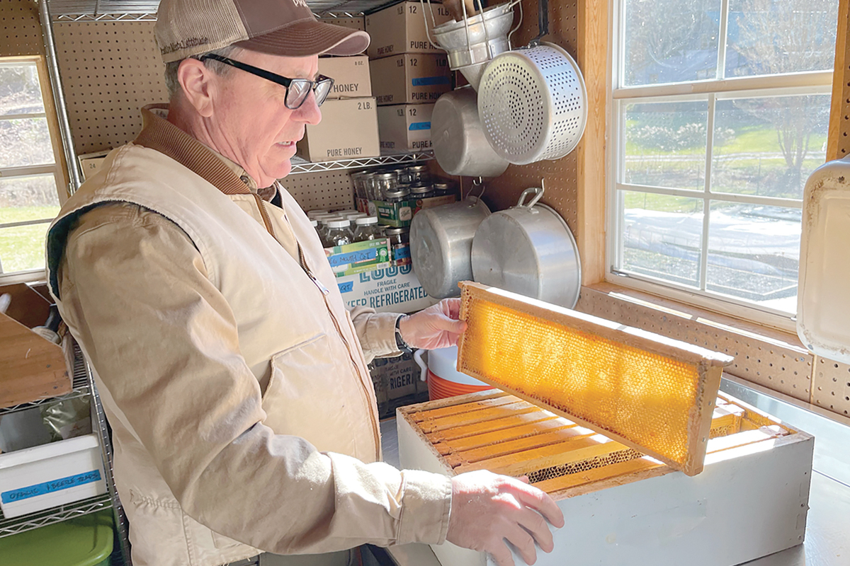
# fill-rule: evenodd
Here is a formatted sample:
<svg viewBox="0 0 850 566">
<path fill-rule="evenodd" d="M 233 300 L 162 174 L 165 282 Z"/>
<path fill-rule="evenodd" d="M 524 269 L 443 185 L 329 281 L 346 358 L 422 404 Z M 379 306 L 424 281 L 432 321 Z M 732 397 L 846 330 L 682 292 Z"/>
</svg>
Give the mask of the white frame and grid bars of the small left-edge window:
<svg viewBox="0 0 850 566">
<path fill-rule="evenodd" d="M 0 120 L 15 120 L 21 118 L 46 118 L 48 120 L 48 134 L 50 136 L 50 147 L 53 151 L 54 162 L 46 165 L 27 165 L 23 167 L 0 167 L 0 178 L 14 179 L 20 177 L 32 177 L 34 175 L 53 175 L 56 183 L 56 191 L 58 193 L 59 204 L 63 199 L 63 189 L 65 188 L 65 172 L 62 169 L 61 156 L 57 154 L 58 132 L 54 132 L 53 120 L 54 117 L 48 116 L 49 109 L 53 108 L 51 101 L 47 99 L 49 91 L 46 88 L 45 81 L 49 81 L 49 77 L 43 68 L 43 61 L 39 55 L 24 55 L 14 57 L 0 57 L 0 67 L 18 67 L 21 64 L 33 64 L 36 67 L 38 74 L 38 84 L 42 95 L 42 104 L 44 112 L 36 112 L 32 114 L 21 115 L 0 115 Z M 11 228 L 20 226 L 32 226 L 36 224 L 48 224 L 53 221 L 53 218 L 42 218 L 37 220 L 28 220 L 20 222 L 0 222 L 0 228 Z M 21 272 L 0 272 L 0 285 L 8 285 L 13 283 L 29 283 L 38 281 L 45 277 L 44 269 L 30 269 Z"/>
</svg>

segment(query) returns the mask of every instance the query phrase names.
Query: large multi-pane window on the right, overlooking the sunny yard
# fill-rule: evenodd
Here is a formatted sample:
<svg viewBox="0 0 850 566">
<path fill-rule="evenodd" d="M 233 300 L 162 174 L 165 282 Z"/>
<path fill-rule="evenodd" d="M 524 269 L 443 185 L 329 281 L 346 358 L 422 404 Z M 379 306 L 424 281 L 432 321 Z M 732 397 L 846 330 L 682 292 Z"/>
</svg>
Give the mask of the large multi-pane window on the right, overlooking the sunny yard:
<svg viewBox="0 0 850 566">
<path fill-rule="evenodd" d="M 787 323 L 838 0 L 616 5 L 609 277 Z"/>
</svg>

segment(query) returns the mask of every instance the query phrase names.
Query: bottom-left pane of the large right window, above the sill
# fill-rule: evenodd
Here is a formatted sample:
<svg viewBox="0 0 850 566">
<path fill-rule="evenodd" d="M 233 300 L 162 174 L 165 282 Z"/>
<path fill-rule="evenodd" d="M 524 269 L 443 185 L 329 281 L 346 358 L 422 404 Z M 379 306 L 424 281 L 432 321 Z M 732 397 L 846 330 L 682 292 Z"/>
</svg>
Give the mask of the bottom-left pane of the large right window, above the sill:
<svg viewBox="0 0 850 566">
<path fill-rule="evenodd" d="M 703 201 L 632 191 L 621 195 L 621 270 L 699 285 Z"/>
</svg>

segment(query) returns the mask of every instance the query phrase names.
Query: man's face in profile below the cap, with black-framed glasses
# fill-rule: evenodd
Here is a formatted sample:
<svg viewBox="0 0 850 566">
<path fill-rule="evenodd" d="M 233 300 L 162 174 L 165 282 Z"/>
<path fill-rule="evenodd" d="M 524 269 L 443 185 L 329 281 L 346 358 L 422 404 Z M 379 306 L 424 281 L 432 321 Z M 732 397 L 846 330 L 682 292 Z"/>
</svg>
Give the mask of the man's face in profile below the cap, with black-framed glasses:
<svg viewBox="0 0 850 566">
<path fill-rule="evenodd" d="M 313 80 L 319 72 L 316 55 L 280 57 L 242 51 L 233 59 L 291 79 Z M 241 165 L 258 187 L 269 187 L 289 174 L 295 143 L 304 136 L 307 124 L 319 123 L 319 107 L 310 92 L 300 108 L 288 109 L 286 87 L 244 70 L 229 71 L 215 81 L 217 96 L 207 126 L 219 153 Z"/>
</svg>

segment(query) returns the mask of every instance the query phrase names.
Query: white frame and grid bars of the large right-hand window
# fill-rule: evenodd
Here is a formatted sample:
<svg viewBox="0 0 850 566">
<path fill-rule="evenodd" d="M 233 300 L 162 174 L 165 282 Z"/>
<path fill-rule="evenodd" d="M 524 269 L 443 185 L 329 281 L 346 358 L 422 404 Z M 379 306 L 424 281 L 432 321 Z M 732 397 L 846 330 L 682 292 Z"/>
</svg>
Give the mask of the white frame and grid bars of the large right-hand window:
<svg viewBox="0 0 850 566">
<path fill-rule="evenodd" d="M 625 52 L 621 49 L 624 38 L 624 23 L 621 18 L 622 10 L 626 0 L 610 0 L 609 9 L 609 120 L 607 125 L 608 149 L 606 151 L 606 261 L 605 279 L 609 283 L 615 283 L 622 287 L 636 289 L 649 294 L 662 296 L 666 299 L 677 300 L 685 304 L 704 308 L 708 311 L 716 311 L 732 317 L 743 318 L 750 322 L 756 322 L 765 326 L 779 328 L 787 332 L 796 332 L 796 315 L 789 315 L 783 311 L 756 305 L 745 300 L 736 300 L 713 294 L 708 291 L 697 290 L 670 281 L 656 279 L 654 277 L 624 273 L 615 269 L 615 264 L 621 258 L 622 241 L 621 227 L 621 199 L 620 189 L 635 189 L 638 192 L 670 194 L 684 196 L 692 199 L 703 199 L 703 233 L 701 239 L 702 252 L 700 253 L 700 288 L 705 288 L 706 283 L 706 261 L 708 247 L 708 227 L 710 215 L 710 201 L 732 201 L 741 203 L 757 203 L 763 205 L 783 206 L 789 208 L 802 208 L 802 200 L 776 199 L 769 197 L 753 197 L 745 194 L 735 193 L 710 193 L 711 187 L 711 154 L 713 151 L 712 137 L 714 135 L 714 111 L 715 101 L 728 98 L 745 98 L 751 96 L 794 96 L 826 94 L 832 92 L 833 71 L 809 71 L 793 75 L 772 76 L 744 76 L 729 79 L 715 79 L 698 82 L 685 82 L 661 85 L 648 85 L 638 87 L 621 87 L 624 76 Z M 728 0 L 723 0 L 721 14 L 728 14 Z M 717 37 L 718 53 L 717 68 L 725 69 L 726 66 L 726 41 L 727 41 L 727 18 L 720 22 L 720 30 Z M 625 104 L 635 102 L 669 102 L 688 100 L 707 100 L 708 120 L 706 126 L 706 179 L 702 190 L 684 190 L 659 187 L 643 187 L 619 182 L 625 178 L 626 151 L 625 151 L 625 124 L 623 120 L 623 107 Z"/>
</svg>

